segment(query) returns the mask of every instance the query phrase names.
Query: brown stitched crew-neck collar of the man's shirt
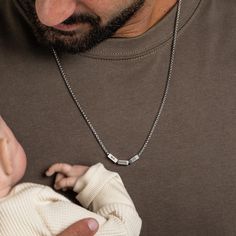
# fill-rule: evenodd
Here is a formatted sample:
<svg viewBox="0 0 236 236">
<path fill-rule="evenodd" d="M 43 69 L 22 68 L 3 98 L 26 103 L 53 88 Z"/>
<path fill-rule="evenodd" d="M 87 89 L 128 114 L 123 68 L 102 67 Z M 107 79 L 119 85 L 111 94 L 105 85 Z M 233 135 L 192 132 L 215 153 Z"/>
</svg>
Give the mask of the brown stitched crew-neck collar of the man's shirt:
<svg viewBox="0 0 236 236">
<path fill-rule="evenodd" d="M 17 9 L 26 18 L 19 0 L 13 0 Z M 201 0 L 183 0 L 179 30 L 183 29 L 195 15 Z M 133 38 L 109 38 L 81 56 L 103 59 L 126 59 L 148 54 L 167 43 L 173 36 L 177 4 L 157 24 L 144 34 Z M 28 21 L 28 23 L 30 23 Z"/>
</svg>

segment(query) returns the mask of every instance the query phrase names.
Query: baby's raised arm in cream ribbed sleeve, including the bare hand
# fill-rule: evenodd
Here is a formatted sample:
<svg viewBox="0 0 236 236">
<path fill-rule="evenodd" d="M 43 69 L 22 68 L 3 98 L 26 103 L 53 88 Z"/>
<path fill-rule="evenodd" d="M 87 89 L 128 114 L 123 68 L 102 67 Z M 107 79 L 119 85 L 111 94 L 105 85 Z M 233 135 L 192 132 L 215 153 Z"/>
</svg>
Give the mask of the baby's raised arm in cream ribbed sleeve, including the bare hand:
<svg viewBox="0 0 236 236">
<path fill-rule="evenodd" d="M 102 164 L 88 168 L 61 163 L 52 165 L 46 174 L 54 173 L 57 189 L 73 188 L 85 208 L 105 219 L 96 235 L 139 235 L 141 220 L 117 173 Z"/>
</svg>

